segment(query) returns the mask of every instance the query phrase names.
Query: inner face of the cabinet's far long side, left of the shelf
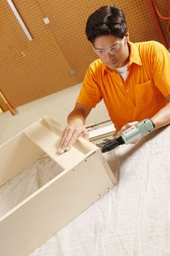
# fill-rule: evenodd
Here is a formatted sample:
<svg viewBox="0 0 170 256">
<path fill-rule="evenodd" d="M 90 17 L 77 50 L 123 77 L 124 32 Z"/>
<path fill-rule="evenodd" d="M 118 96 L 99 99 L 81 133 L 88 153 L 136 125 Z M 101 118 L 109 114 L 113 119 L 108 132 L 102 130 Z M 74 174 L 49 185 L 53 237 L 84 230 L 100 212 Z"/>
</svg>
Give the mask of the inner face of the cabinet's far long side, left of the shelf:
<svg viewBox="0 0 170 256">
<path fill-rule="evenodd" d="M 45 153 L 21 132 L 0 146 L 0 187 Z"/>
</svg>

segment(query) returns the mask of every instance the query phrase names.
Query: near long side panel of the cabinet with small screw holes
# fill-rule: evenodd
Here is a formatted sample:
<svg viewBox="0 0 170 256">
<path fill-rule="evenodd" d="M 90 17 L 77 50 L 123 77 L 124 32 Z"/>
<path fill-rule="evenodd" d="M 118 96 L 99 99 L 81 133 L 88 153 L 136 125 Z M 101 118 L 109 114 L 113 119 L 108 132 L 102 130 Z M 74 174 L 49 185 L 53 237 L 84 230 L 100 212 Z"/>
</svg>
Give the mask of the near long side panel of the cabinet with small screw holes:
<svg viewBox="0 0 170 256">
<path fill-rule="evenodd" d="M 112 187 L 97 153 L 90 155 L 0 218 L 1 255 L 30 254 Z"/>
</svg>

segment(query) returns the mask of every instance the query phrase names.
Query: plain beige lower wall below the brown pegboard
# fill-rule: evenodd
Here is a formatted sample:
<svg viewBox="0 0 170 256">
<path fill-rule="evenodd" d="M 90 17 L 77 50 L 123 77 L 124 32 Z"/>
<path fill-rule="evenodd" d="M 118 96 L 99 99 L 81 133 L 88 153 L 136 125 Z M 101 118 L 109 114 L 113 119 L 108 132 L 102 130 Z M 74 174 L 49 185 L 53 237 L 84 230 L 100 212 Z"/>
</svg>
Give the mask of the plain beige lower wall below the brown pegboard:
<svg viewBox="0 0 170 256">
<path fill-rule="evenodd" d="M 66 125 L 66 117 L 72 110 L 81 84 L 66 88 L 58 93 L 40 98 L 36 101 L 19 106 L 17 115 L 12 116 L 9 111 L 0 114 L 0 144 L 17 135 L 37 119 L 46 115 Z M 104 103 L 99 103 L 86 120 L 86 124 L 99 123 L 109 120 Z"/>
</svg>

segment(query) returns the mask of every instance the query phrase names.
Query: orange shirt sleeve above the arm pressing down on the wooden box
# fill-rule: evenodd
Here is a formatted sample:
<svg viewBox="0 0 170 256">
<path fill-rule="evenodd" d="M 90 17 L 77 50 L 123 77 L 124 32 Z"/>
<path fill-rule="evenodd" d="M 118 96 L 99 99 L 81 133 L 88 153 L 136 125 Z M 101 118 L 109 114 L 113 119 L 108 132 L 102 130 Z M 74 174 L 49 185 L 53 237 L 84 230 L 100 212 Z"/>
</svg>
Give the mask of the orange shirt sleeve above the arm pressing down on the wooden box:
<svg viewBox="0 0 170 256">
<path fill-rule="evenodd" d="M 76 103 L 81 103 L 94 108 L 100 101 L 102 101 L 102 93 L 97 82 L 97 75 L 95 75 L 94 70 L 90 66 L 86 71 L 84 82 Z"/>
</svg>

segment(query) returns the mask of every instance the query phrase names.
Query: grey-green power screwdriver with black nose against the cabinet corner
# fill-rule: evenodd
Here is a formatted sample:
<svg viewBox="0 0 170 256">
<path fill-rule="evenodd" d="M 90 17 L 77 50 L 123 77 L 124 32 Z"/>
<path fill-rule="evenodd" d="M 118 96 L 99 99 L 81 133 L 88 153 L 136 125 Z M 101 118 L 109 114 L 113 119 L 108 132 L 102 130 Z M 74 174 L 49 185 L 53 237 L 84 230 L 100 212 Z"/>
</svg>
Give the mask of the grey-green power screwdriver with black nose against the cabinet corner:
<svg viewBox="0 0 170 256">
<path fill-rule="evenodd" d="M 122 144 L 129 144 L 135 140 L 148 135 L 155 127 L 155 124 L 151 119 L 144 119 L 138 124 L 135 124 L 133 127 L 130 127 L 122 132 L 119 136 L 115 137 L 113 140 L 110 140 L 102 147 L 102 153 L 105 153 L 113 148 L 117 148 Z"/>
</svg>

